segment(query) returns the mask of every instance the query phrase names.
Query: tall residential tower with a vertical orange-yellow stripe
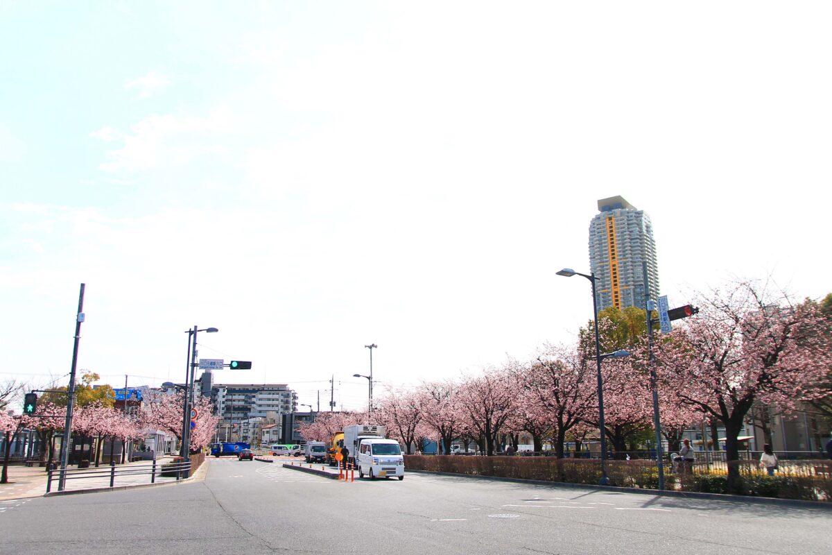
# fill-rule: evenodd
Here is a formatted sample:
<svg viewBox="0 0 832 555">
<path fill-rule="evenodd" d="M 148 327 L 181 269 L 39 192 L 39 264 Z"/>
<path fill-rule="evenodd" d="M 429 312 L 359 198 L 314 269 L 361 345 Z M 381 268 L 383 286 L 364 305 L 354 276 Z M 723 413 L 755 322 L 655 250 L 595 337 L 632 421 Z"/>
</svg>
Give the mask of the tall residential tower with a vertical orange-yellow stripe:
<svg viewBox="0 0 832 555">
<path fill-rule="evenodd" d="M 659 296 L 656 241 L 645 211 L 636 210 L 621 196 L 598 201 L 598 214 L 589 225 L 589 264 L 598 278 L 598 310 L 615 306 L 645 308 L 644 271 L 650 280 L 650 296 Z"/>
</svg>

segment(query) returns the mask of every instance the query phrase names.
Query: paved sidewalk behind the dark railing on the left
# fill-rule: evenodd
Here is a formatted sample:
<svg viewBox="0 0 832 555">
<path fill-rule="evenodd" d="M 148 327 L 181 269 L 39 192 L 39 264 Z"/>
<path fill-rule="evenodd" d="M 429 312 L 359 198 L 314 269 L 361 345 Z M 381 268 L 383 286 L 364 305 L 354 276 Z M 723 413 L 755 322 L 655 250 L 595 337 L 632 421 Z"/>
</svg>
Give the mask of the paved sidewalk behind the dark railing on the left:
<svg viewBox="0 0 832 555">
<path fill-rule="evenodd" d="M 156 483 L 176 482 L 176 478 L 159 476 L 163 463 L 170 463 L 171 457 L 156 459 Z M 113 486 L 135 486 L 151 483 L 152 461 L 136 461 L 135 463 L 116 464 L 116 478 Z M 83 473 L 84 478 L 71 478 L 77 473 Z M 60 472 L 52 472 L 52 492 L 57 492 Z M 18 498 L 42 497 L 47 493 L 47 470 L 44 467 L 27 467 L 23 465 L 9 465 L 9 483 L 0 483 L 0 501 Z M 110 487 L 110 466 L 102 464 L 96 468 L 67 467 L 66 488 L 64 491 L 80 491 Z"/>
</svg>

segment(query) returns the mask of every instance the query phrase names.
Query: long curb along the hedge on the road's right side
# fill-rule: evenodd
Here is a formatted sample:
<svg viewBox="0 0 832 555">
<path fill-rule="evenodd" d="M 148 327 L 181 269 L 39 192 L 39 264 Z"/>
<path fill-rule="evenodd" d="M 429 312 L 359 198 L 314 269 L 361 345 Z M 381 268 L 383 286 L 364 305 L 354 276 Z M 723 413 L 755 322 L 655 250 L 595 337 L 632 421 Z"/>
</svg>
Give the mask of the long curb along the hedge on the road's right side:
<svg viewBox="0 0 832 555">
<path fill-rule="evenodd" d="M 437 472 L 433 470 L 414 470 L 408 468 L 407 472 L 436 474 L 438 476 L 450 476 L 452 478 L 472 478 L 482 480 L 497 480 L 498 482 L 528 483 L 536 486 L 549 486 L 551 488 L 568 489 L 591 489 L 597 491 L 619 492 L 619 493 L 640 493 L 641 495 L 653 495 L 656 497 L 683 498 L 683 499 L 711 499 L 712 501 L 732 501 L 735 503 L 750 503 L 754 505 L 781 505 L 804 508 L 820 508 L 832 510 L 832 503 L 823 501 L 804 501 L 801 499 L 779 499 L 779 498 L 758 498 L 750 495 L 730 495 L 727 493 L 700 493 L 700 492 L 675 492 L 664 489 L 642 489 L 642 488 L 619 488 L 617 486 L 596 486 L 589 483 L 567 483 L 547 482 L 546 480 L 524 480 L 522 478 L 501 478 L 498 476 L 478 476 L 475 474 L 458 474 L 451 472 Z"/>
</svg>

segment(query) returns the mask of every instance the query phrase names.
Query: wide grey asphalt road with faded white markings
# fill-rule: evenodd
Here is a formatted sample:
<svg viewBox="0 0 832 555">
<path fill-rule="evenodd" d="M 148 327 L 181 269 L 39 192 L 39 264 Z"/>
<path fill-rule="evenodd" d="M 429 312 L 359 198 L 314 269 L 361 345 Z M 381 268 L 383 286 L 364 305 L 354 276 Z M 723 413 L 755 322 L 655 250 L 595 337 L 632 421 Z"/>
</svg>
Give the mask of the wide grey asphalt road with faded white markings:
<svg viewBox="0 0 832 555">
<path fill-rule="evenodd" d="M 830 553 L 829 509 L 208 465 L 195 483 L 4 503 L 0 553 Z"/>
</svg>

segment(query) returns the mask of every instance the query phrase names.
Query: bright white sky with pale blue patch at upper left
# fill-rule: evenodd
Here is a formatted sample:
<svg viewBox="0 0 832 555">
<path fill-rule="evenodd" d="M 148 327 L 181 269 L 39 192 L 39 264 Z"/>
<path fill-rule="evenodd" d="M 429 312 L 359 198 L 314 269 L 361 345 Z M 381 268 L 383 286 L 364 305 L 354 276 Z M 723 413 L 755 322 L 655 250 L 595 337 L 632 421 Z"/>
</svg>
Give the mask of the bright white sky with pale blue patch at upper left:
<svg viewBox="0 0 832 555">
<path fill-rule="evenodd" d="M 598 199 L 671 306 L 832 291 L 828 2 L 0 0 L 0 381 L 365 406 L 570 344 Z M 375 349 L 364 345 L 377 344 Z M 334 390 L 330 393 L 330 379 Z M 300 409 L 306 409 L 301 406 Z"/>
</svg>

